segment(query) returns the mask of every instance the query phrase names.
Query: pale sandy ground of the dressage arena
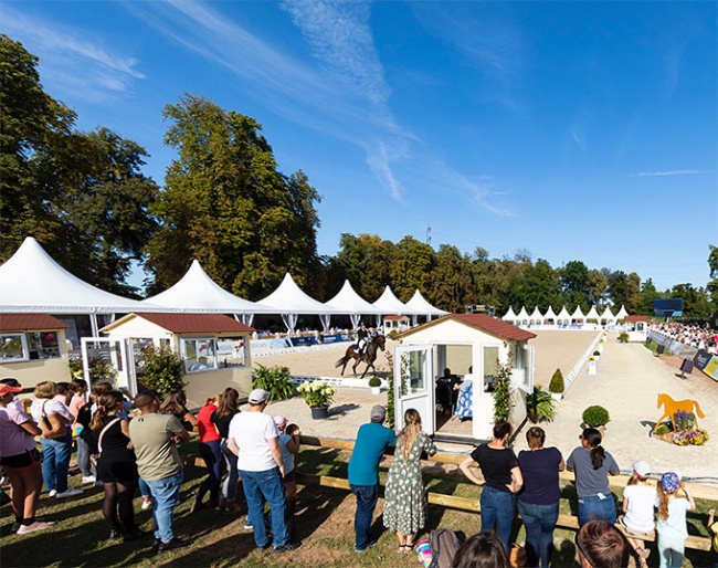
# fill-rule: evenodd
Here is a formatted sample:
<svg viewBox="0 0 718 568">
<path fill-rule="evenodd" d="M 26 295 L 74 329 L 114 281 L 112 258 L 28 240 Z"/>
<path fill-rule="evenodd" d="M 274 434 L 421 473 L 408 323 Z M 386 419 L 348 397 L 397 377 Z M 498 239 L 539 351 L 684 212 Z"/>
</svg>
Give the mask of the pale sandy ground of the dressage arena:
<svg viewBox="0 0 718 568">
<path fill-rule="evenodd" d="M 581 358 L 598 332 L 538 330 L 530 345 L 536 348 L 535 380 L 548 387 L 556 368 L 564 376 Z M 654 357 L 642 344 L 617 344 L 616 333 L 609 333 L 603 356 L 595 376 L 589 376 L 584 365 L 566 397 L 557 404 L 557 419 L 543 423 L 547 445 L 556 445 L 564 456 L 579 444 L 581 414 L 591 404 L 609 410 L 611 422 L 606 427 L 604 446 L 629 473 L 631 464 L 647 460 L 654 473 L 679 470 L 696 483 L 718 486 L 718 382 L 695 370 L 686 379 L 676 376 L 678 369 L 666 360 Z M 395 344 L 389 341 L 390 350 Z M 287 355 L 268 355 L 254 359 L 254 365 L 283 365 L 293 375 L 338 377 L 334 364 L 347 348 L 347 344 Z M 380 375 L 389 371 L 382 353 L 377 358 Z M 363 371 L 363 365 L 358 368 Z M 461 370 L 456 370 L 461 372 Z M 350 367 L 345 376 L 351 376 Z M 704 446 L 677 446 L 650 435 L 655 421 L 663 414 L 657 408 L 658 393 L 665 392 L 675 400 L 695 399 L 706 418 L 698 423 L 711 434 Z M 300 398 L 270 404 L 267 412 L 284 414 L 297 422 L 303 433 L 328 438 L 353 439 L 357 429 L 369 420 L 372 404 L 386 403 L 387 393 L 372 396 L 369 388 L 340 387 L 327 420 L 312 420 L 308 407 Z M 524 427 L 526 429 L 526 427 Z M 467 452 L 466 446 L 437 444 L 452 452 Z M 515 449 L 526 448 L 524 431 L 517 436 Z"/>
</svg>

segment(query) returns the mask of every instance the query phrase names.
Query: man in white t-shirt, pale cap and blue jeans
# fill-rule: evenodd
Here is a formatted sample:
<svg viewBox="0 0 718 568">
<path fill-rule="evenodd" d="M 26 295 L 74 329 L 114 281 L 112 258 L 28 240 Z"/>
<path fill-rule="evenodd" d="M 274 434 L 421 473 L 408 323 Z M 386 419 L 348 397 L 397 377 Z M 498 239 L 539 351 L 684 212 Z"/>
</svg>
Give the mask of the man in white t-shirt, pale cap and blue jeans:
<svg viewBox="0 0 718 568">
<path fill-rule="evenodd" d="M 279 450 L 279 432 L 274 419 L 264 413 L 270 393 L 254 389 L 250 392 L 250 408 L 234 414 L 230 423 L 229 449 L 237 455 L 236 466 L 242 476 L 242 486 L 249 507 L 249 517 L 254 527 L 254 543 L 257 548 L 270 544 L 264 526 L 264 502 L 272 513 L 273 553 L 294 550 L 285 522 L 284 460 Z"/>
</svg>

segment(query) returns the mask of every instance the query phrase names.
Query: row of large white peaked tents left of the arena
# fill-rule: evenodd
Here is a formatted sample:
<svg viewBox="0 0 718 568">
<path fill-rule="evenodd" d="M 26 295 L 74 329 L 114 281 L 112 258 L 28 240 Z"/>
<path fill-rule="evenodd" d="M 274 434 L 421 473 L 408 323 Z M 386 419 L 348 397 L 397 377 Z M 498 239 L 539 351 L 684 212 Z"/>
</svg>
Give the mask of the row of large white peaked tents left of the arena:
<svg viewBox="0 0 718 568">
<path fill-rule="evenodd" d="M 445 315 L 432 306 L 419 290 L 405 304 L 387 286 L 373 303 L 363 299 L 345 281 L 341 291 L 321 303 L 305 294 L 286 274 L 282 284 L 260 302 L 250 302 L 231 294 L 192 261 L 184 276 L 165 292 L 142 301 L 129 299 L 102 291 L 60 266 L 32 236 L 28 236 L 15 253 L 0 265 L 0 317 L 10 313 L 87 314 L 93 334 L 97 334 L 98 314 L 130 312 L 191 312 L 233 314 L 251 325 L 255 314 L 278 314 L 288 332 L 294 332 L 299 315 L 318 315 L 325 330 L 332 315 L 349 316 L 357 327 L 361 316 L 376 316 L 377 324 L 386 315 Z"/>
</svg>

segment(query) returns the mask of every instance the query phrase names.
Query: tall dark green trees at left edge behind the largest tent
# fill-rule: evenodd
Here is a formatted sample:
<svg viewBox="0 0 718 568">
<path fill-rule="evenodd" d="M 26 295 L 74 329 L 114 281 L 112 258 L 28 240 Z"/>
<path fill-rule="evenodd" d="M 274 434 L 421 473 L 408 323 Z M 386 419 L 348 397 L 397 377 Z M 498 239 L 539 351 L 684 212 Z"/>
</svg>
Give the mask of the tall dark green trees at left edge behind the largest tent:
<svg viewBox="0 0 718 568">
<path fill-rule="evenodd" d="M 131 262 L 141 262 L 156 228 L 147 154 L 107 128 L 77 130 L 75 114 L 43 91 L 36 65 L 0 36 L 0 261 L 33 235 L 76 276 L 133 294 Z"/>
</svg>

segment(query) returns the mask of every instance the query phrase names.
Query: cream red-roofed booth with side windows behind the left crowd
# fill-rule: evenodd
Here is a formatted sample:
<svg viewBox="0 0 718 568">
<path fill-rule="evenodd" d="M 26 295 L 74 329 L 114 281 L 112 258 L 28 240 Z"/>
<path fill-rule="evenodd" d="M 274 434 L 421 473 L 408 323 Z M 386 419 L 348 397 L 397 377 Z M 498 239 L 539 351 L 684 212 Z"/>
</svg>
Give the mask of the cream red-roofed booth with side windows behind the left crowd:
<svg viewBox="0 0 718 568">
<path fill-rule="evenodd" d="M 250 335 L 254 328 L 226 315 L 133 313 L 102 332 L 107 337 L 84 338 L 83 350 L 104 343 L 118 372 L 117 385 L 133 395 L 137 392 L 137 374 L 141 374 L 141 351 L 148 345 L 170 347 L 182 359 L 188 408 L 201 407 L 208 397 L 228 387 L 240 396 L 252 390 Z"/>
</svg>

